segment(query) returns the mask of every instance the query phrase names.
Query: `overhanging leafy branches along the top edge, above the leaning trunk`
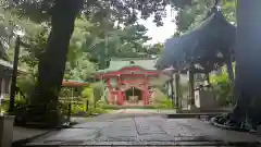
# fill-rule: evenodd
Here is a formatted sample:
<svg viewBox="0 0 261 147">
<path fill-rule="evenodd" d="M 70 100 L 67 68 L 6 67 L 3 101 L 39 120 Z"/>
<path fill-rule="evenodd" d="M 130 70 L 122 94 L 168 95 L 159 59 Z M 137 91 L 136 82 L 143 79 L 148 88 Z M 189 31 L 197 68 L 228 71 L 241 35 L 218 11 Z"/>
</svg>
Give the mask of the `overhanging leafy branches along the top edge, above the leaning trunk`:
<svg viewBox="0 0 261 147">
<path fill-rule="evenodd" d="M 117 21 L 120 24 L 134 24 L 138 14 L 141 19 L 148 19 L 151 14 L 154 14 L 154 23 L 158 26 L 162 25 L 162 17 L 164 17 L 165 5 L 169 3 L 166 0 L 159 1 L 127 1 L 127 0 L 115 0 L 113 2 L 101 0 L 75 0 L 64 1 L 70 3 L 72 13 L 80 11 L 86 17 L 91 19 L 92 22 L 102 23 L 104 19 L 110 17 L 111 21 Z M 53 8 L 62 10 L 62 7 L 66 7 L 63 2 L 55 0 L 41 0 L 41 1 L 5 1 L 2 2 L 2 7 L 14 10 L 21 16 L 30 17 L 34 22 L 46 22 L 49 19 L 49 14 Z M 84 5 L 84 7 L 83 7 Z M 107 9 L 110 7 L 110 9 Z M 79 9 L 82 8 L 82 10 Z M 54 9 L 54 10 L 55 10 Z M 137 13 L 139 11 L 140 13 Z M 52 14 L 52 13 L 51 13 Z"/>
</svg>

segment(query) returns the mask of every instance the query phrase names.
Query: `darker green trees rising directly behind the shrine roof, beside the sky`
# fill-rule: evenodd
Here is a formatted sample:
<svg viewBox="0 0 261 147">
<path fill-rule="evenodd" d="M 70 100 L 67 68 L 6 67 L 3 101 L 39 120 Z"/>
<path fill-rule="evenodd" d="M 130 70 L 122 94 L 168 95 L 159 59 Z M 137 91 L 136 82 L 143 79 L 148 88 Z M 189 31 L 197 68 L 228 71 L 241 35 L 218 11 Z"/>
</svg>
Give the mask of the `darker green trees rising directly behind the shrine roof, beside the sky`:
<svg viewBox="0 0 261 147">
<path fill-rule="evenodd" d="M 144 25 L 129 25 L 124 28 L 103 28 L 102 25 L 94 25 L 86 32 L 86 40 L 83 49 L 90 54 L 91 61 L 98 63 L 100 69 L 108 66 L 105 59 L 112 57 L 134 58 L 149 57 L 148 47 L 144 44 L 150 38 L 146 35 Z M 97 33 L 95 32 L 97 30 Z"/>
</svg>

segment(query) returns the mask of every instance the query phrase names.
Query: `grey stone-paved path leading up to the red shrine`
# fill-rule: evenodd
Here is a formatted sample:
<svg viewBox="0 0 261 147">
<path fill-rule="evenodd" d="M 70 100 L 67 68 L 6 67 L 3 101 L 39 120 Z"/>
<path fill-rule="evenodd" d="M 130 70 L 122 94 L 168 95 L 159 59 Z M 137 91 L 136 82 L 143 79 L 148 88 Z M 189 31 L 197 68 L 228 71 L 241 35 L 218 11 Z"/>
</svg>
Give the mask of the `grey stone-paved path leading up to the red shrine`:
<svg viewBox="0 0 261 147">
<path fill-rule="evenodd" d="M 78 124 L 73 128 L 53 132 L 48 136 L 37 138 L 27 145 L 217 146 L 228 143 L 252 144 L 257 142 L 260 142 L 260 138 L 254 135 L 221 130 L 197 119 L 135 117 Z"/>
</svg>

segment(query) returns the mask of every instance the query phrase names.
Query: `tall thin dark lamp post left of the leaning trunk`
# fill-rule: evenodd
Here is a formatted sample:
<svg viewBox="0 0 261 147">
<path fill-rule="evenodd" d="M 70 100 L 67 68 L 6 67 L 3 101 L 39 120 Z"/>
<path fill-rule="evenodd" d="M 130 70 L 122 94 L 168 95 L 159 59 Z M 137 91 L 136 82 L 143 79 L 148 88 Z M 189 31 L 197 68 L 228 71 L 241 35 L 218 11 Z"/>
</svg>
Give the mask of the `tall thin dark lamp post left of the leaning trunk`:
<svg viewBox="0 0 261 147">
<path fill-rule="evenodd" d="M 11 82 L 10 101 L 9 101 L 9 112 L 11 112 L 11 113 L 14 110 L 20 46 L 21 46 L 21 37 L 24 36 L 24 32 L 16 30 L 16 32 L 14 32 L 14 34 L 16 35 L 16 39 L 15 39 L 15 48 L 14 48 L 12 82 Z"/>
</svg>

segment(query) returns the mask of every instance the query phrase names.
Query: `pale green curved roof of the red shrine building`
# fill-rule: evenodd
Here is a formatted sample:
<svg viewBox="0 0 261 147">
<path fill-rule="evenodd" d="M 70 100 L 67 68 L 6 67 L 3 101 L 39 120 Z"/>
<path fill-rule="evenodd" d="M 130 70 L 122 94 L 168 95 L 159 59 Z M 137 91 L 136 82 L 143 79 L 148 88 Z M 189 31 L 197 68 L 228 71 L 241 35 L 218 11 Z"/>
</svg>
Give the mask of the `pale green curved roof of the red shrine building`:
<svg viewBox="0 0 261 147">
<path fill-rule="evenodd" d="M 129 66 L 139 66 L 144 70 L 156 71 L 154 64 L 156 59 L 152 58 L 113 58 L 110 61 L 110 66 L 105 70 L 98 71 L 98 73 L 114 72 Z"/>
</svg>

